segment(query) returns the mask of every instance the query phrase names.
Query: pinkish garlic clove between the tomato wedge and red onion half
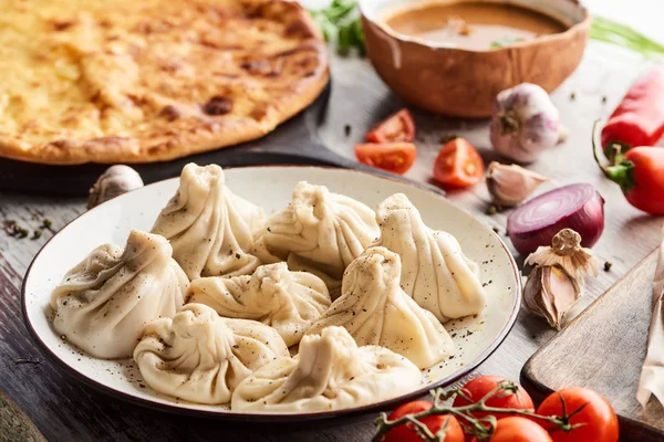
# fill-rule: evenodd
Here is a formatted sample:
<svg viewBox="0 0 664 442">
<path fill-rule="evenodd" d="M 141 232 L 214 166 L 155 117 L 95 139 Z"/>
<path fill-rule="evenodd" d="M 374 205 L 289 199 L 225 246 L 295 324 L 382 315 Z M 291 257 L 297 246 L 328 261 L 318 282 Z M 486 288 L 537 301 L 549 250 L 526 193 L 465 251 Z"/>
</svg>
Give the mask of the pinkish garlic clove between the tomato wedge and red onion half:
<svg viewBox="0 0 664 442">
<path fill-rule="evenodd" d="M 535 189 L 549 179 L 517 165 L 491 161 L 487 170 L 487 188 L 496 206 L 511 207 L 530 197 Z"/>
</svg>

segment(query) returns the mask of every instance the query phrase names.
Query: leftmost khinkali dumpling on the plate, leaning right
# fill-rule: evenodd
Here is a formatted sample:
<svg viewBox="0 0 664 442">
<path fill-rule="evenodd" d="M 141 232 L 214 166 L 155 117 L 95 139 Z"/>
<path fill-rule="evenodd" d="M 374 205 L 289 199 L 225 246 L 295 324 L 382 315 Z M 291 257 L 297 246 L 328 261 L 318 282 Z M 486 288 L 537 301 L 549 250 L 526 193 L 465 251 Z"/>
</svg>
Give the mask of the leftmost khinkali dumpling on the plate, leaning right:
<svg viewBox="0 0 664 442">
<path fill-rule="evenodd" d="M 128 358 L 143 328 L 179 311 L 189 285 L 163 236 L 134 230 L 124 252 L 105 244 L 51 295 L 53 328 L 97 358 Z"/>
</svg>

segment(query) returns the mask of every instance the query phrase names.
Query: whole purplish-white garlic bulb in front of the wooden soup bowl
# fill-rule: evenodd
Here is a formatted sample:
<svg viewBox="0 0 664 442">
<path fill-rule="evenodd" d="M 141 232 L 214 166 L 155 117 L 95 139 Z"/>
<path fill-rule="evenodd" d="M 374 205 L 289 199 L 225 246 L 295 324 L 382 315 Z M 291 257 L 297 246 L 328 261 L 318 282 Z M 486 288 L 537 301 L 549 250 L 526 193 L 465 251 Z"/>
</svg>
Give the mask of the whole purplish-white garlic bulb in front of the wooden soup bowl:
<svg viewBox="0 0 664 442">
<path fill-rule="evenodd" d="M 560 119 L 549 94 L 536 84 L 521 83 L 496 97 L 491 117 L 491 145 L 500 155 L 532 162 L 556 146 Z"/>
</svg>

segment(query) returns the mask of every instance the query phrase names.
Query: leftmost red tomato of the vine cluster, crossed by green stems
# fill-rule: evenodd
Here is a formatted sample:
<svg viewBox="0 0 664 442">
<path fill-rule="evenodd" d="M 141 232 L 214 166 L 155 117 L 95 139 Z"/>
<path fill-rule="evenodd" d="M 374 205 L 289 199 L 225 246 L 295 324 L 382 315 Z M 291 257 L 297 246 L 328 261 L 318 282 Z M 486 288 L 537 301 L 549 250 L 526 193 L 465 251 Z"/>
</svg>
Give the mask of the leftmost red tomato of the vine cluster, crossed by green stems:
<svg viewBox="0 0 664 442">
<path fill-rule="evenodd" d="M 413 401 L 408 403 L 404 403 L 396 410 L 390 414 L 390 420 L 395 420 L 403 418 L 406 414 L 416 414 L 432 408 L 432 402 L 427 401 Z M 459 422 L 456 420 L 454 415 L 430 415 L 428 418 L 422 419 L 422 423 L 424 423 L 432 433 L 436 434 L 440 429 L 446 428 L 445 438 L 443 441 L 445 442 L 463 442 L 464 441 L 464 430 Z M 447 427 L 445 427 L 447 425 Z M 412 429 L 413 424 L 407 423 L 404 425 L 398 425 L 387 432 L 383 438 L 383 442 L 421 442 L 422 439 L 415 433 Z"/>
</svg>

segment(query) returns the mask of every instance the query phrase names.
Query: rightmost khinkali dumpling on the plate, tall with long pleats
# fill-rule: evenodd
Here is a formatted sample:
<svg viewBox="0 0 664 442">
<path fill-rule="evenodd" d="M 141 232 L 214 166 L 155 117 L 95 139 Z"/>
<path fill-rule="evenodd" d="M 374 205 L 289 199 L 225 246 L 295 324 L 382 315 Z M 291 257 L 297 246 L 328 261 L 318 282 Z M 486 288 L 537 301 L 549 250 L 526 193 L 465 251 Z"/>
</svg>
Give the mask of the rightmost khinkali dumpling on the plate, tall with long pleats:
<svg viewBox="0 0 664 442">
<path fill-rule="evenodd" d="M 375 245 L 401 256 L 401 286 L 421 307 L 442 322 L 485 308 L 478 265 L 464 255 L 456 238 L 426 227 L 405 194 L 381 202 L 376 220 L 382 234 Z"/>
</svg>

